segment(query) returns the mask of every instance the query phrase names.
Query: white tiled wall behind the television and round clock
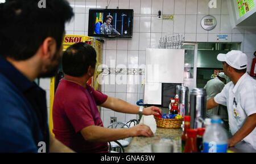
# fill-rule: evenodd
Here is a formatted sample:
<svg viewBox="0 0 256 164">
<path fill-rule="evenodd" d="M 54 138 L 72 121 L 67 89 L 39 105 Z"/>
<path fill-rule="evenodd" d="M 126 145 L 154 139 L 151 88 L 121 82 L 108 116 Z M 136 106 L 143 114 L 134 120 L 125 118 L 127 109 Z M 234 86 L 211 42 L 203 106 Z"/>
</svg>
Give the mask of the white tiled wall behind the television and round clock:
<svg viewBox="0 0 256 164">
<path fill-rule="evenodd" d="M 249 68 L 256 50 L 256 30 L 232 29 L 226 0 L 217 0 L 217 8 L 209 8 L 208 0 L 68 0 L 75 11 L 75 18 L 66 25 L 66 34 L 88 34 L 89 8 L 131 8 L 134 10 L 133 38 L 105 39 L 103 46 L 103 63 L 111 60 L 115 66 L 124 64 L 130 68 L 144 68 L 146 48 L 158 48 L 159 38 L 167 34 L 184 34 L 185 41 L 216 42 L 218 34 L 228 35 L 225 42 L 242 42 L 242 51 L 249 59 Z M 162 14 L 174 15 L 174 20 L 157 18 L 158 11 Z M 200 21 L 205 15 L 213 15 L 217 25 L 212 31 L 204 31 Z M 248 69 L 249 69 L 248 68 Z M 109 75 L 115 78 L 117 75 Z M 109 78 L 105 76 L 105 79 Z M 118 77 L 119 78 L 119 77 Z M 116 78 L 116 79 L 118 79 Z M 105 84 L 102 92 L 108 96 L 121 98 L 132 104 L 142 99 L 141 82 L 144 75 L 126 75 L 121 80 L 136 82 L 130 84 Z M 115 79 L 115 80 L 116 80 Z M 120 80 L 120 79 L 119 79 Z M 106 80 L 107 81 L 107 80 Z M 109 80 L 110 81 L 110 80 Z M 40 86 L 47 90 L 49 107 L 49 79 L 41 79 Z M 104 126 L 110 123 L 110 116 L 126 122 L 138 118 L 137 115 L 117 113 L 109 109 L 101 110 Z"/>
</svg>

